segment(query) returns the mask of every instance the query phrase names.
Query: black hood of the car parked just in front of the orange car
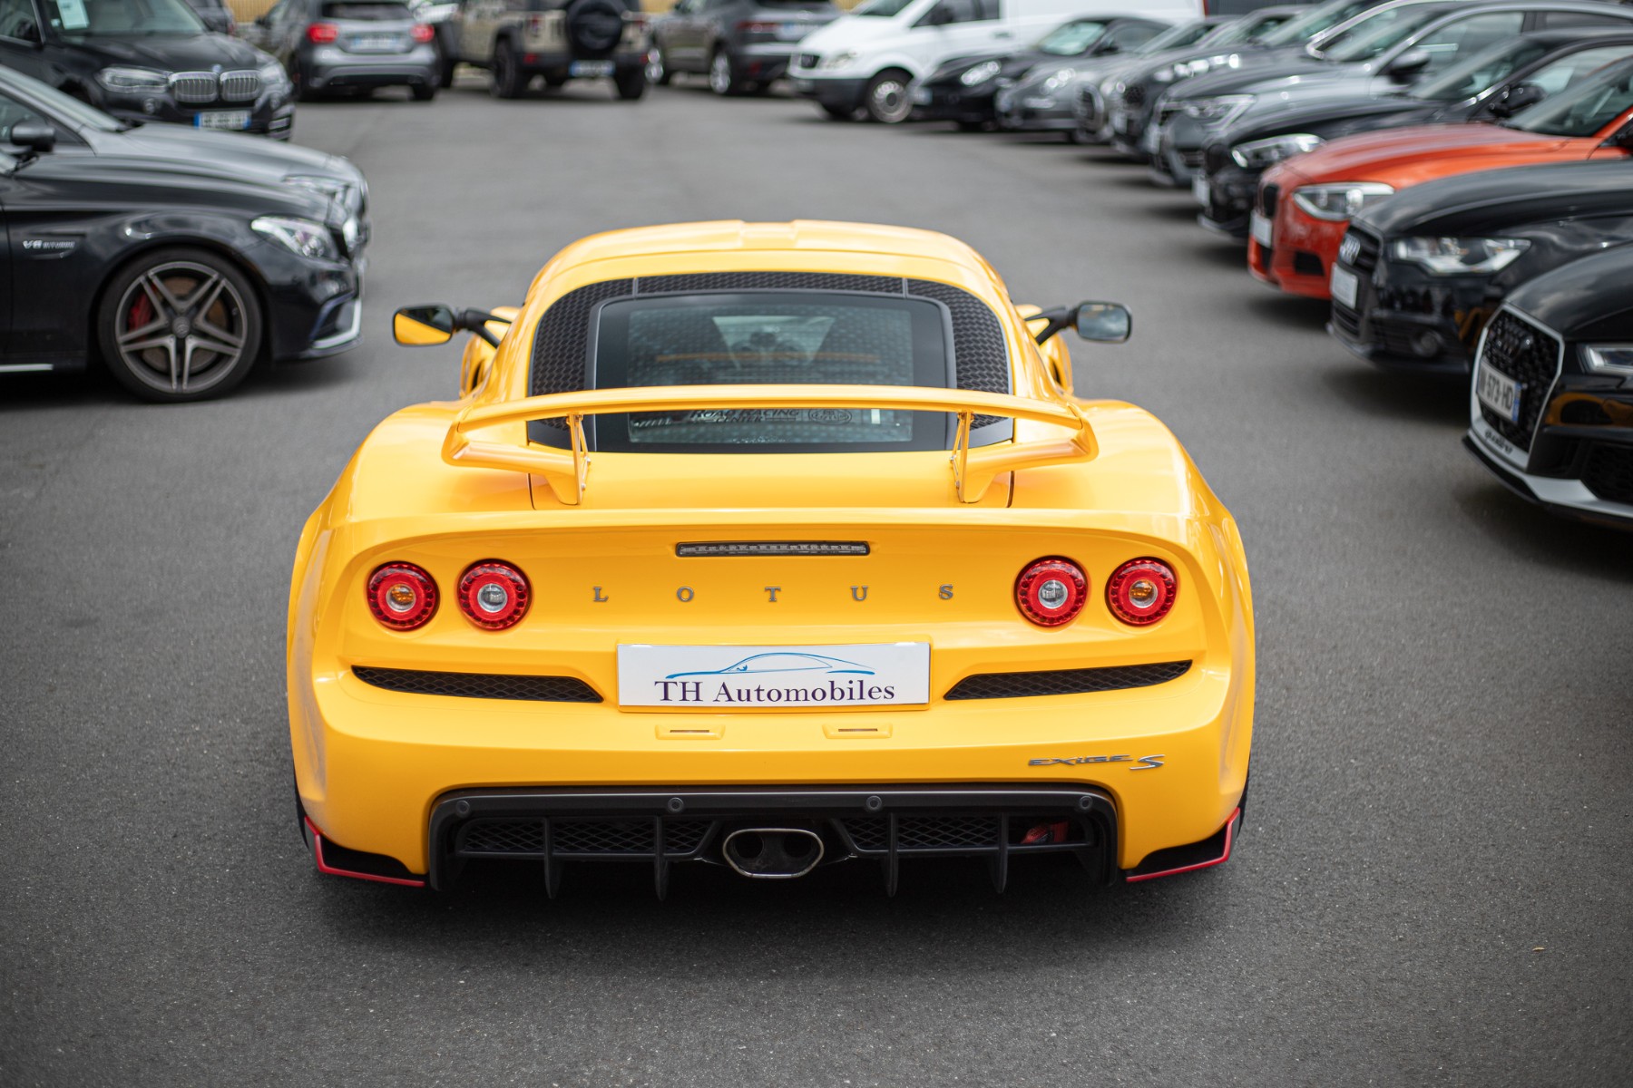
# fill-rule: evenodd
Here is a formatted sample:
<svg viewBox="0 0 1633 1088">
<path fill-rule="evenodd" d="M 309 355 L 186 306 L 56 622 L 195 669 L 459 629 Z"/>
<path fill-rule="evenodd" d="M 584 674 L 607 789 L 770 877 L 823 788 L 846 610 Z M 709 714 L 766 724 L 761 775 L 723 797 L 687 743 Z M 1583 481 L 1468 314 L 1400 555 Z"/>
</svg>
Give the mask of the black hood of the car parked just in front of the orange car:
<svg viewBox="0 0 1633 1088">
<path fill-rule="evenodd" d="M 1355 223 L 1385 238 L 1471 238 L 1581 215 L 1633 215 L 1633 163 L 1548 163 L 1439 178 L 1368 207 Z"/>
</svg>

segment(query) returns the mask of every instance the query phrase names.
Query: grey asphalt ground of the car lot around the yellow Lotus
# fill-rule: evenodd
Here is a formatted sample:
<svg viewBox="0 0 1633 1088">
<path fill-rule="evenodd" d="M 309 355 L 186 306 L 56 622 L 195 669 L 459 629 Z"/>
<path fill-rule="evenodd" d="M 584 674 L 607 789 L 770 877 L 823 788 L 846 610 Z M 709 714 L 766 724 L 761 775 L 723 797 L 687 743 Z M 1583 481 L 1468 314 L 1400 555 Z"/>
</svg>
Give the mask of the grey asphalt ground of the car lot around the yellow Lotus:
<svg viewBox="0 0 1633 1088">
<path fill-rule="evenodd" d="M 701 83 L 302 106 L 369 175 L 366 346 L 229 400 L 0 385 L 0 1083 L 1626 1085 L 1633 537 L 1458 447 L 1143 168 L 818 119 Z M 1259 625 L 1236 856 L 789 884 L 568 869 L 416 894 L 314 873 L 283 638 L 302 520 L 447 398 L 397 305 L 518 302 L 581 235 L 694 219 L 950 232 L 1016 299 L 1117 299 L 1081 395 L 1156 411 L 1241 522 Z"/>
</svg>

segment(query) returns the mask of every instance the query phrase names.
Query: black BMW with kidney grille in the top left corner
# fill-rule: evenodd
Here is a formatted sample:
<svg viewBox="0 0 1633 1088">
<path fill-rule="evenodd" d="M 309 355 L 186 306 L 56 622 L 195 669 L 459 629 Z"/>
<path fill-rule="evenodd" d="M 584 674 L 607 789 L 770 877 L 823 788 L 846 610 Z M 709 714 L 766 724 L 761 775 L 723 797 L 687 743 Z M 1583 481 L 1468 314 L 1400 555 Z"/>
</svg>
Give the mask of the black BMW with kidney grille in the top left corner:
<svg viewBox="0 0 1633 1088">
<path fill-rule="evenodd" d="M 5 0 L 0 65 L 126 121 L 287 140 L 283 67 L 204 26 L 185 0 Z"/>
</svg>

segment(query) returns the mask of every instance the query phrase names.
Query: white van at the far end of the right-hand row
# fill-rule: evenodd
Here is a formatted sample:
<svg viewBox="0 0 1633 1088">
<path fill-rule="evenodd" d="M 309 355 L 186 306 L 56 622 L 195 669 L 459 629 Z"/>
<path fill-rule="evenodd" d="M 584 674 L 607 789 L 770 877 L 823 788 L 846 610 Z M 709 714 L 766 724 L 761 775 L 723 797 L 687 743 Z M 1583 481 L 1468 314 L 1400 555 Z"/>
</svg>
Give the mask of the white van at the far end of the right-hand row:
<svg viewBox="0 0 1633 1088">
<path fill-rule="evenodd" d="M 865 109 L 897 124 L 913 113 L 908 85 L 942 60 L 1029 47 L 1078 15 L 1202 15 L 1202 0 L 867 0 L 805 36 L 789 77 L 830 117 Z"/>
</svg>

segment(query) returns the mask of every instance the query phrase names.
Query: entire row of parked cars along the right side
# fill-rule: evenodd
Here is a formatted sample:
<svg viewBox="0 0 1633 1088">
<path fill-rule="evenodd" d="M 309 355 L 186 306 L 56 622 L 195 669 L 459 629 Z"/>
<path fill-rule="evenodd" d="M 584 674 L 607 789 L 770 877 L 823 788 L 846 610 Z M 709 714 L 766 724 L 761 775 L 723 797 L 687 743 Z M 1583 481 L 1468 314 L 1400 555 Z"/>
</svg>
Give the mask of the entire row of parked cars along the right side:
<svg viewBox="0 0 1633 1088">
<path fill-rule="evenodd" d="M 800 83 L 823 64 L 800 60 L 797 90 L 851 116 Z M 944 60 L 906 98 L 854 109 L 1058 130 L 1148 163 L 1246 243 L 1249 274 L 1329 300 L 1346 349 L 1468 380 L 1465 445 L 1504 484 L 1633 529 L 1633 7 L 1078 15 Z"/>
</svg>

